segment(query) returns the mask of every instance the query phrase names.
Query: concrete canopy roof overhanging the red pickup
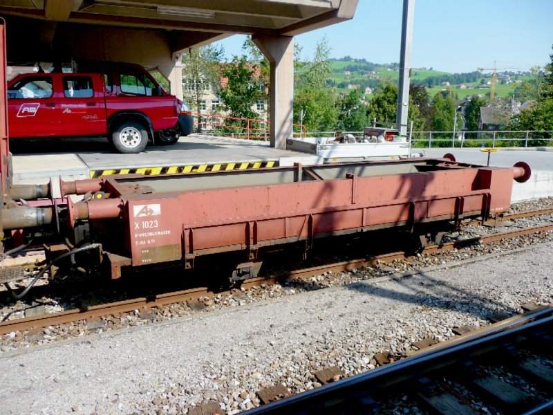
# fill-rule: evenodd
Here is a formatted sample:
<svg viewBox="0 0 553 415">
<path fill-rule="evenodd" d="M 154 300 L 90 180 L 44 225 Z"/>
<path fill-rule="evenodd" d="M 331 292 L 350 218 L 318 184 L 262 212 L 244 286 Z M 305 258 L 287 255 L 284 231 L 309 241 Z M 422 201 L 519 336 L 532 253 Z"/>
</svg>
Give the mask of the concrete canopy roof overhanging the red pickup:
<svg viewBox="0 0 553 415">
<path fill-rule="evenodd" d="M 351 19 L 358 0 L 3 0 L 8 62 L 155 65 L 234 34 L 293 36 Z"/>
</svg>

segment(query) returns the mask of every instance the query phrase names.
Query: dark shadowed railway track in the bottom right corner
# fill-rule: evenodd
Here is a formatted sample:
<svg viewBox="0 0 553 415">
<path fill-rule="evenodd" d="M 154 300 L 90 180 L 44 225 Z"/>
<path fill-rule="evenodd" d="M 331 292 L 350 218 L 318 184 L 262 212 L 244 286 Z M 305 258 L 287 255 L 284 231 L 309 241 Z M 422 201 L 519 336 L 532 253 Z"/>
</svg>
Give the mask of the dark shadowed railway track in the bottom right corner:
<svg viewBox="0 0 553 415">
<path fill-rule="evenodd" d="M 247 413 L 551 413 L 552 350 L 553 308 L 541 307 Z"/>
</svg>

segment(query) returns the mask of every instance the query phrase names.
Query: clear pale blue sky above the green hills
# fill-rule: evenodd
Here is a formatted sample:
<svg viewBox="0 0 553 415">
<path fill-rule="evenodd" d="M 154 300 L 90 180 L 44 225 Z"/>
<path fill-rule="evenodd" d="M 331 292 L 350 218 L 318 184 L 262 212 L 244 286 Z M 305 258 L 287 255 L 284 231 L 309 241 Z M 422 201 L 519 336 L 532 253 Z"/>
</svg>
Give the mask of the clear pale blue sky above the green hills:
<svg viewBox="0 0 553 415">
<path fill-rule="evenodd" d="M 299 35 L 309 58 L 326 35 L 330 57 L 365 58 L 379 64 L 400 61 L 402 0 L 359 0 L 355 17 Z M 243 36 L 218 44 L 227 57 L 241 54 Z M 550 62 L 553 0 L 415 0 L 413 68 L 471 72 L 478 66 L 529 68 Z"/>
</svg>

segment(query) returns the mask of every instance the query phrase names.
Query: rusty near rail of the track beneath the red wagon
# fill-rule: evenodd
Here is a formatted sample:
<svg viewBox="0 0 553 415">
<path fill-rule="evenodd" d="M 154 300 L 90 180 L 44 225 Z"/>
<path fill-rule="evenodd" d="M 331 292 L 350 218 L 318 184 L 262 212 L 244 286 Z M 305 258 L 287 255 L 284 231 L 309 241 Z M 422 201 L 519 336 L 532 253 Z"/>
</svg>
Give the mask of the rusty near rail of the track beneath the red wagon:
<svg viewBox="0 0 553 415">
<path fill-rule="evenodd" d="M 452 250 L 453 248 L 469 246 L 478 242 L 491 243 L 494 241 L 500 241 L 501 239 L 509 239 L 525 234 L 546 232 L 548 230 L 553 230 L 553 224 L 534 226 L 531 228 L 523 228 L 519 230 L 509 230 L 507 232 L 498 232 L 496 234 L 462 239 L 460 241 L 451 241 L 444 243 L 442 246 L 428 246 L 427 248 L 424 248 L 422 253 L 433 254 L 435 252 L 444 252 L 447 250 Z M 300 277 L 319 275 L 329 270 L 331 270 L 332 272 L 351 271 L 355 268 L 375 265 L 378 262 L 390 262 L 395 259 L 409 260 L 414 258 L 415 257 L 411 257 L 408 253 L 403 251 L 391 252 L 384 255 L 376 255 L 370 258 L 341 261 L 334 264 L 303 268 L 300 270 L 292 270 L 278 275 L 256 277 L 248 279 L 242 284 L 242 286 L 243 288 L 251 288 L 252 286 L 259 286 L 261 284 L 274 284 L 286 279 L 297 279 Z M 62 311 L 59 313 L 39 315 L 36 317 L 24 317 L 17 320 L 0 322 L 0 334 L 6 334 L 12 331 L 27 330 L 33 332 L 38 331 L 46 326 L 55 326 L 57 324 L 66 324 L 69 322 L 77 322 L 80 320 L 86 320 L 87 322 L 90 322 L 94 320 L 100 320 L 101 317 L 114 313 L 129 313 L 134 310 L 149 311 L 154 307 L 165 306 L 167 304 L 176 304 L 179 302 L 189 301 L 191 299 L 198 299 L 200 297 L 225 293 L 229 293 L 229 291 L 214 293 L 212 291 L 209 291 L 207 288 L 193 288 L 185 291 L 163 293 L 152 295 L 150 297 L 138 297 L 135 299 L 129 299 L 120 302 L 100 304 L 89 306 L 86 308 L 77 308 L 73 310 Z"/>
</svg>

